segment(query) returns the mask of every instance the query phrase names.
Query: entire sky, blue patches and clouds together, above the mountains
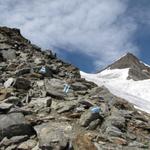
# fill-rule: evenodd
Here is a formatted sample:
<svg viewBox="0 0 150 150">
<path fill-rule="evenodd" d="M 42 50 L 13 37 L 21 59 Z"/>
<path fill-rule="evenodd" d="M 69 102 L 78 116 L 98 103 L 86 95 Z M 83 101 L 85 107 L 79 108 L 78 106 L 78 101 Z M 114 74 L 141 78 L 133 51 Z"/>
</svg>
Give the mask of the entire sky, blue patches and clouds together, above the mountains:
<svg viewBox="0 0 150 150">
<path fill-rule="evenodd" d="M 149 0 L 0 0 L 0 25 L 95 72 L 126 52 L 150 64 L 149 8 Z"/>
</svg>

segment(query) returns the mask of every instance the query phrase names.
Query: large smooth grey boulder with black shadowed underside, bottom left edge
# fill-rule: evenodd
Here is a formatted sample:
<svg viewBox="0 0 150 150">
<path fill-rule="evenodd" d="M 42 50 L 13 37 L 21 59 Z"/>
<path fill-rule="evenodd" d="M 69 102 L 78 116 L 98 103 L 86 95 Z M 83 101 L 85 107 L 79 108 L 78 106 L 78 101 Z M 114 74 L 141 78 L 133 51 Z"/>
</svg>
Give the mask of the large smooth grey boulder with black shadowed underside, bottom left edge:
<svg viewBox="0 0 150 150">
<path fill-rule="evenodd" d="M 35 134 L 34 129 L 26 122 L 21 113 L 0 115 L 0 139 L 33 134 Z"/>
</svg>

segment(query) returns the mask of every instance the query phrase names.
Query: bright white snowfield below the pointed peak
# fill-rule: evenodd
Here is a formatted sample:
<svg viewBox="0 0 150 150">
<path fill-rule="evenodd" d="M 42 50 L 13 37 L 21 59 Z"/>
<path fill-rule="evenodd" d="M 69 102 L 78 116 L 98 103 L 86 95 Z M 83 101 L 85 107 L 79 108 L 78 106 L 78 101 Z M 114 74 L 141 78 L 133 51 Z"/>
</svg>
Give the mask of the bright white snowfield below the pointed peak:
<svg viewBox="0 0 150 150">
<path fill-rule="evenodd" d="M 104 85 L 114 95 L 124 98 L 140 110 L 150 113 L 150 79 L 127 80 L 129 68 L 106 69 L 97 74 L 80 71 L 81 77 L 98 86 Z"/>
</svg>

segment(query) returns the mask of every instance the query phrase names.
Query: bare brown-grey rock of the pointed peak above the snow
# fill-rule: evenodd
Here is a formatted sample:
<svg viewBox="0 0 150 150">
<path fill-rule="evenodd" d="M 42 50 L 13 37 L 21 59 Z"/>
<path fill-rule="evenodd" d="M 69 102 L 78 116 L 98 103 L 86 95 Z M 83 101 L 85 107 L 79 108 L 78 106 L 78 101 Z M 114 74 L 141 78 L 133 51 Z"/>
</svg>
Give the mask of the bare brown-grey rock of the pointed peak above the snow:
<svg viewBox="0 0 150 150">
<path fill-rule="evenodd" d="M 128 79 L 133 79 L 135 81 L 150 79 L 150 67 L 140 62 L 140 60 L 131 53 L 127 53 L 124 57 L 109 65 L 107 68 L 130 68 Z"/>
</svg>

